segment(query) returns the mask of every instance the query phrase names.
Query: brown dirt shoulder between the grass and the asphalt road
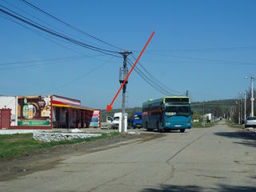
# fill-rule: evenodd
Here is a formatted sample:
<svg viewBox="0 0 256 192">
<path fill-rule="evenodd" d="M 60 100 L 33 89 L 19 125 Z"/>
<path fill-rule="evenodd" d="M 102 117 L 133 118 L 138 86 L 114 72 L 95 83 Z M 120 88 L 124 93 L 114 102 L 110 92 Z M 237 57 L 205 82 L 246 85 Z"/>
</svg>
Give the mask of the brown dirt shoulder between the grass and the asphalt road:
<svg viewBox="0 0 256 192">
<path fill-rule="evenodd" d="M 0 181 L 6 181 L 40 170 L 48 170 L 71 156 L 93 153 L 136 142 L 146 142 L 161 138 L 163 134 L 121 134 L 114 138 L 104 138 L 91 142 L 54 146 L 15 158 L 0 160 Z"/>
</svg>

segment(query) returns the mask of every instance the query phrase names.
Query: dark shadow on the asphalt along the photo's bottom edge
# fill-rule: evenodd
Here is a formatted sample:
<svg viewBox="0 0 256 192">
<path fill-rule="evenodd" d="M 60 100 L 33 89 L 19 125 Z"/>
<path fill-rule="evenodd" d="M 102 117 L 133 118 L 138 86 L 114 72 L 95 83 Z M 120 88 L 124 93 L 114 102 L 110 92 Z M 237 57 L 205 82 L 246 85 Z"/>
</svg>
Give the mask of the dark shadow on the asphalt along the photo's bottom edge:
<svg viewBox="0 0 256 192">
<path fill-rule="evenodd" d="M 256 186 L 226 186 L 226 185 L 218 185 L 217 188 L 202 188 L 200 186 L 174 186 L 174 185 L 166 185 L 162 186 L 160 189 L 147 188 L 142 190 L 142 192 L 196 192 L 196 191 L 234 191 L 234 192 L 249 192 L 256 191 Z"/>
</svg>

